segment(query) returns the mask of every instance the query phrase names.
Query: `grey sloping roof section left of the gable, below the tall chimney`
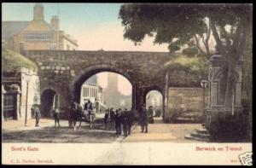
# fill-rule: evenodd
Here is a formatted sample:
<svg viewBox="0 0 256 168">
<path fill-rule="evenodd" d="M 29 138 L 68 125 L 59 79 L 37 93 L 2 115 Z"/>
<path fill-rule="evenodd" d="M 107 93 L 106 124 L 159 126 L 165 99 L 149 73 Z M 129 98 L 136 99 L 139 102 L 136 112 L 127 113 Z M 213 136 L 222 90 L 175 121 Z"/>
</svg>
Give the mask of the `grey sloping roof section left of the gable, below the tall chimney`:
<svg viewBox="0 0 256 168">
<path fill-rule="evenodd" d="M 2 21 L 2 37 L 14 38 L 16 34 L 21 32 L 30 21 Z"/>
</svg>

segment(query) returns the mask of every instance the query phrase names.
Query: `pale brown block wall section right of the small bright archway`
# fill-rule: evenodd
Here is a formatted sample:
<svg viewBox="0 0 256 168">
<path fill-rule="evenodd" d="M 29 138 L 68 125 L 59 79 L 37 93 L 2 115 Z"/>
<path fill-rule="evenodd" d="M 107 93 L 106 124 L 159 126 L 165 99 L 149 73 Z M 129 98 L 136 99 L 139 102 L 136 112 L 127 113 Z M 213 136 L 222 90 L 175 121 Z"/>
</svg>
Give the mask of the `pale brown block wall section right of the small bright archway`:
<svg viewBox="0 0 256 168">
<path fill-rule="evenodd" d="M 207 95 L 206 93 L 206 107 Z M 169 122 L 201 122 L 203 90 L 201 88 L 169 88 L 168 111 L 166 118 Z"/>
</svg>

